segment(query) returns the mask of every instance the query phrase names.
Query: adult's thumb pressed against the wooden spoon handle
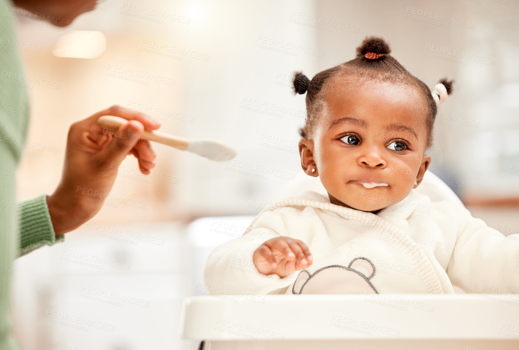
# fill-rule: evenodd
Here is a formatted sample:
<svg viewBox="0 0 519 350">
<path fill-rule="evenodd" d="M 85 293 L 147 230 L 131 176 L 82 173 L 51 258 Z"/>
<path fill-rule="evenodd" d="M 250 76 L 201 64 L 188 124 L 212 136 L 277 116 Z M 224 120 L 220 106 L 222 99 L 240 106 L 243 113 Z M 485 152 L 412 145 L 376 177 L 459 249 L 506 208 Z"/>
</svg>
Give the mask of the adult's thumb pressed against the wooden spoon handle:
<svg viewBox="0 0 519 350">
<path fill-rule="evenodd" d="M 99 152 L 102 163 L 122 162 L 139 142 L 143 132 L 143 125 L 136 120 L 129 120 L 126 124 L 121 125 L 111 142 Z"/>
</svg>

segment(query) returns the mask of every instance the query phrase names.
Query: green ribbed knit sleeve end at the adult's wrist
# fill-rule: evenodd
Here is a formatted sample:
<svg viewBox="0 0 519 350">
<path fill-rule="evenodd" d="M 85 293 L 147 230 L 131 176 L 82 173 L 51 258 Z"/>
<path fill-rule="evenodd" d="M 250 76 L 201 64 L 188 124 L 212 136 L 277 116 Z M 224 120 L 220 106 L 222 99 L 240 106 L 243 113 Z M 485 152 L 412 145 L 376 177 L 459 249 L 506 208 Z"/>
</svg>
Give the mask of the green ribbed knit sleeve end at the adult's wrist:
<svg viewBox="0 0 519 350">
<path fill-rule="evenodd" d="M 19 203 L 20 207 L 20 256 L 47 244 L 65 240 L 62 234 L 56 237 L 47 206 L 47 195 Z"/>
</svg>

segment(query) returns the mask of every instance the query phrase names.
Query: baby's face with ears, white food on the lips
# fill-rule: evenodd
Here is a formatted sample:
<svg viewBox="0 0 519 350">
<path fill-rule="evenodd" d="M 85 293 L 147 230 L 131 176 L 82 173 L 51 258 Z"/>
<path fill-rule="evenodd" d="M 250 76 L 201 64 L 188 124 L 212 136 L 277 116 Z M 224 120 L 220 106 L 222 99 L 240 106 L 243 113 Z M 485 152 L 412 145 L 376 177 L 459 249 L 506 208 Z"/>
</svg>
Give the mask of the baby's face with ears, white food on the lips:
<svg viewBox="0 0 519 350">
<path fill-rule="evenodd" d="M 307 174 L 320 177 L 330 201 L 376 212 L 407 197 L 431 159 L 425 97 L 412 86 L 339 77 L 323 102 L 313 139 L 299 149 L 303 169 L 306 162 Z"/>
</svg>

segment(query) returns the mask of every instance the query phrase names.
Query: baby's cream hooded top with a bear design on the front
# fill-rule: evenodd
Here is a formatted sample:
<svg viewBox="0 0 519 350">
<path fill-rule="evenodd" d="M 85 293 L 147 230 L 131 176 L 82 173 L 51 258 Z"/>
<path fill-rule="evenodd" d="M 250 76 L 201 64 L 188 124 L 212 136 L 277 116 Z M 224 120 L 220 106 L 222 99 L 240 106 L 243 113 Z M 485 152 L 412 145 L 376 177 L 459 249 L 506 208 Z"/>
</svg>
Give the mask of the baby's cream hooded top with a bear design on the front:
<svg viewBox="0 0 519 350">
<path fill-rule="evenodd" d="M 252 255 L 275 236 L 305 242 L 313 264 L 280 278 Z M 519 234 L 504 237 L 454 201 L 412 190 L 377 215 L 315 191 L 260 213 L 241 237 L 217 246 L 204 269 L 212 295 L 267 293 L 519 293 Z"/>
</svg>

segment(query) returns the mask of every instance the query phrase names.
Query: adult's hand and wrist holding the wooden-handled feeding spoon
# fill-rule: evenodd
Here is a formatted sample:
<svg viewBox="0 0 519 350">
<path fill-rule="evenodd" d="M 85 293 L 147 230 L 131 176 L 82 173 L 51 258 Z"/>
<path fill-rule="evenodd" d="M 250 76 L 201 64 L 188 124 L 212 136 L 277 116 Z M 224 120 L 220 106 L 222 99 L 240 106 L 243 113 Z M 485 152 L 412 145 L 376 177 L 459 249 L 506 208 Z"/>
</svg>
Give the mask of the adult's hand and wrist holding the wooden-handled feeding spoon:
<svg viewBox="0 0 519 350">
<path fill-rule="evenodd" d="M 129 121 L 118 130 L 110 130 L 97 123 L 105 115 Z M 71 125 L 62 178 L 56 191 L 47 197 L 57 236 L 74 230 L 99 212 L 126 156 L 135 156 L 141 172 L 149 174 L 156 155 L 140 136 L 144 129 L 159 127 L 142 113 L 121 106 L 112 106 Z"/>
</svg>

